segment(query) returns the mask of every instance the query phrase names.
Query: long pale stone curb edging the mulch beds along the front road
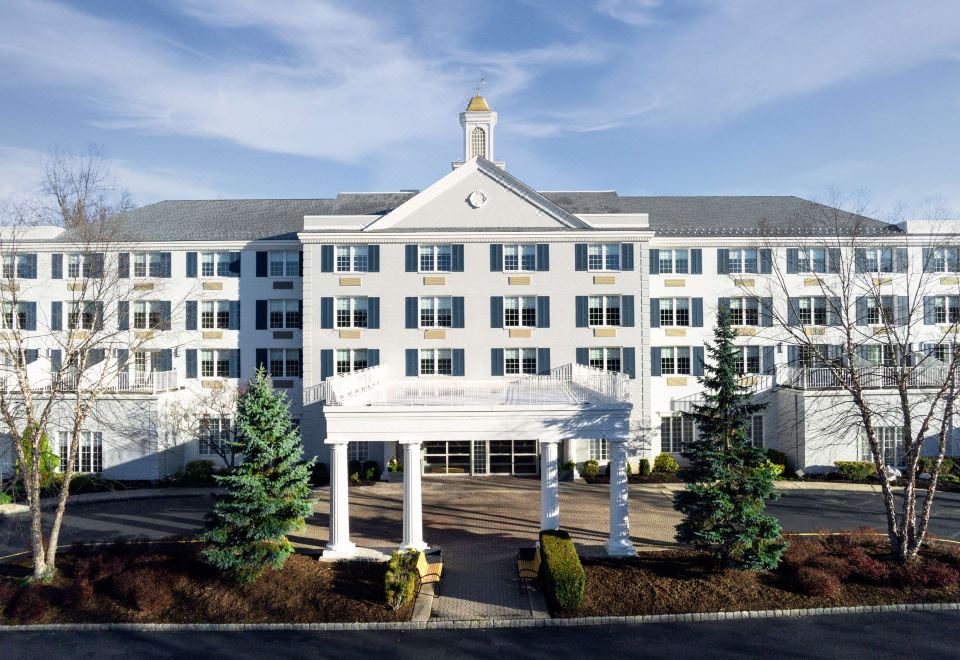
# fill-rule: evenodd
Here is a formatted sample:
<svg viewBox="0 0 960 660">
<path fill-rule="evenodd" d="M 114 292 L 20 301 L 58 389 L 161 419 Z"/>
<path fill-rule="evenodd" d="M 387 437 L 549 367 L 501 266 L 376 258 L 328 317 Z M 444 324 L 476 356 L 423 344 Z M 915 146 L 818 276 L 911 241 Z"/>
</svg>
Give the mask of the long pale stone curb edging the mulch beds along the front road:
<svg viewBox="0 0 960 660">
<path fill-rule="evenodd" d="M 738 621 L 742 619 L 793 619 L 840 614 L 881 614 L 885 612 L 960 611 L 960 603 L 913 603 L 902 605 L 855 605 L 800 610 L 750 610 L 690 614 L 647 614 L 641 616 L 594 616 L 572 619 L 475 619 L 450 621 L 399 621 L 375 623 L 48 623 L 0 626 L 3 632 L 247 632 L 295 630 L 309 632 L 367 630 L 465 630 L 476 628 L 568 628 L 637 623 L 679 623 Z"/>
</svg>

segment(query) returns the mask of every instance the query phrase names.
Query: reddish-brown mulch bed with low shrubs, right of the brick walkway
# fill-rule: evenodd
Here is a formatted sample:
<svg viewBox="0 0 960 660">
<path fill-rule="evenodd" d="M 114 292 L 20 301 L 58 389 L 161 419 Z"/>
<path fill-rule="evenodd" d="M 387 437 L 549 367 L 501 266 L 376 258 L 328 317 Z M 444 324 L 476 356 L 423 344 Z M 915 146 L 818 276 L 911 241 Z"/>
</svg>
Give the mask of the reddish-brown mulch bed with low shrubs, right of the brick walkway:
<svg viewBox="0 0 960 660">
<path fill-rule="evenodd" d="M 576 616 L 960 601 L 960 551 L 946 545 L 930 545 L 904 568 L 865 533 L 790 542 L 772 572 L 725 569 L 690 550 L 585 558 L 586 594 Z"/>
</svg>

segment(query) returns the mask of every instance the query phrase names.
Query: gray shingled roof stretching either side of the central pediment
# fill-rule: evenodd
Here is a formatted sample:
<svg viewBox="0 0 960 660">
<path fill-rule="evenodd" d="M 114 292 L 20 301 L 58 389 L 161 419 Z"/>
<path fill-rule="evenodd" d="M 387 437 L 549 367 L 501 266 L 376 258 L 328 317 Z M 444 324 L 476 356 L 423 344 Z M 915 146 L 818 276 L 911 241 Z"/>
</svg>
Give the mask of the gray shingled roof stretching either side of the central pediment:
<svg viewBox="0 0 960 660">
<path fill-rule="evenodd" d="M 382 215 L 416 193 L 341 193 L 333 199 L 166 201 L 134 209 L 118 240 L 280 240 L 303 229 L 305 215 Z M 621 197 L 615 191 L 544 192 L 573 214 L 648 213 L 658 236 L 809 236 L 838 226 L 849 234 L 899 232 L 893 225 L 799 197 Z M 495 228 L 485 227 L 492 230 Z M 496 228 L 504 229 L 504 228 Z M 70 232 L 59 240 L 71 240 Z"/>
</svg>

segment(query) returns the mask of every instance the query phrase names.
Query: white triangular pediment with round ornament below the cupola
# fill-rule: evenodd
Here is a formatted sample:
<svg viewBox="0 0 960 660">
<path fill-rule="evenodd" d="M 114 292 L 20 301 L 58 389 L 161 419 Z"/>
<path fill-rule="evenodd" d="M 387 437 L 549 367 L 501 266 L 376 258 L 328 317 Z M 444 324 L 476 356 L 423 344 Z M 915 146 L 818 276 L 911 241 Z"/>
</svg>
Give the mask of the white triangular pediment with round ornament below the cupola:
<svg viewBox="0 0 960 660">
<path fill-rule="evenodd" d="M 364 231 L 588 229 L 589 225 L 483 158 L 467 161 Z"/>
</svg>

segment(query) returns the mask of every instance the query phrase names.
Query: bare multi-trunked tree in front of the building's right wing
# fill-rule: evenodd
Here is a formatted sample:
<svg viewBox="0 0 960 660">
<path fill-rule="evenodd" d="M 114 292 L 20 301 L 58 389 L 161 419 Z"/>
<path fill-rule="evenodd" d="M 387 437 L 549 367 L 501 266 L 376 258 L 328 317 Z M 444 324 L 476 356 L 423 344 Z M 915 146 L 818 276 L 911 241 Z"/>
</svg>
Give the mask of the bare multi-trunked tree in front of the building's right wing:
<svg viewBox="0 0 960 660">
<path fill-rule="evenodd" d="M 769 275 L 741 289 L 756 295 L 766 288 L 770 300 L 787 300 L 769 311 L 771 336 L 788 345 L 791 358 L 777 382 L 820 403 L 796 423 L 815 419 L 839 442 L 863 443 L 880 483 L 892 555 L 908 562 L 926 538 L 952 430 L 960 241 L 938 218 L 928 221 L 928 232 L 908 234 L 865 217 L 863 205 L 846 211 L 843 200 L 831 202 L 810 204 L 795 218 L 791 234 L 804 239 L 768 234 L 771 248 L 787 247 L 786 260 L 772 259 Z M 925 447 L 933 462 L 918 501 Z M 897 465 L 899 503 L 891 478 Z"/>
</svg>

